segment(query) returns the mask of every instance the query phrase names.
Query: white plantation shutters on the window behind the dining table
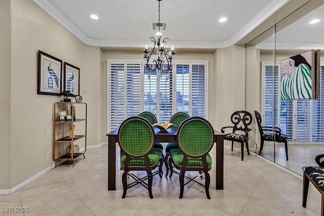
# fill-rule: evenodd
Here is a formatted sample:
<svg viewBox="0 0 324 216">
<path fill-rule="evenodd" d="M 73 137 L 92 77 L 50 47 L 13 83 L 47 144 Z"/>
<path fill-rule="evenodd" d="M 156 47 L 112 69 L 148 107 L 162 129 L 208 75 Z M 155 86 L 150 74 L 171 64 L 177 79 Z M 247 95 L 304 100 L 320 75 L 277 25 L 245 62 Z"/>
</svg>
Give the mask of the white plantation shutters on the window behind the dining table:
<svg viewBox="0 0 324 216">
<path fill-rule="evenodd" d="M 174 68 L 177 71 L 169 75 L 161 72 L 157 77 L 156 71 L 149 73 L 142 61 L 108 61 L 108 130 L 143 111 L 153 113 L 160 123 L 169 122 L 175 109 L 206 117 L 207 63 Z"/>
</svg>

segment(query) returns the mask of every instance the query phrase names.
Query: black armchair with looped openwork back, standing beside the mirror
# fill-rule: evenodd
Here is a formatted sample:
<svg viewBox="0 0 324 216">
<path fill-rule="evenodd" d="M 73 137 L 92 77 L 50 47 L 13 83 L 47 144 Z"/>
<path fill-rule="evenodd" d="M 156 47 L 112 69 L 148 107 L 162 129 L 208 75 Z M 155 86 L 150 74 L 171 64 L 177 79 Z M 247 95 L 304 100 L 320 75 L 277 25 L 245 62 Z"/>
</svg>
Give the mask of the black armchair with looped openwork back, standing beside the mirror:
<svg viewBox="0 0 324 216">
<path fill-rule="evenodd" d="M 233 112 L 231 115 L 231 122 L 234 126 L 225 126 L 221 128 L 221 132 L 225 134 L 224 140 L 232 141 L 232 151 L 234 142 L 241 144 L 241 160 L 244 158 L 244 143 L 246 143 L 248 155 L 249 151 L 249 131 L 251 129 L 248 127 L 252 123 L 252 115 L 248 111 L 239 110 Z M 225 133 L 228 128 L 232 128 L 231 133 Z M 239 133 L 237 133 L 239 132 Z"/>
</svg>

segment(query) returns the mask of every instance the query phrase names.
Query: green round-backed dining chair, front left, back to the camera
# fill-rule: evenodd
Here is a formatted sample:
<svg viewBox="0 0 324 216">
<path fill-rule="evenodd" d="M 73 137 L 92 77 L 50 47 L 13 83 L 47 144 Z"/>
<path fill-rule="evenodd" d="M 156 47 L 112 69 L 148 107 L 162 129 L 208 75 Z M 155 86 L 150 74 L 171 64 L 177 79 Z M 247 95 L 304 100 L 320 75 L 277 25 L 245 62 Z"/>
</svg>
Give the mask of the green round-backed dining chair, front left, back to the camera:
<svg viewBox="0 0 324 216">
<path fill-rule="evenodd" d="M 121 123 L 118 129 L 118 139 L 120 149 L 123 151 L 120 156 L 120 166 L 124 170 L 121 177 L 124 193 L 121 198 L 125 198 L 127 189 L 141 184 L 148 189 L 152 199 L 153 176 L 159 174 L 162 178 L 163 158 L 161 157 L 162 150 L 153 148 L 155 133 L 151 123 L 142 117 L 130 117 Z M 152 172 L 157 167 L 158 170 Z M 146 171 L 147 176 L 140 179 L 131 172 L 132 170 Z M 135 181 L 128 184 L 127 176 Z M 146 180 L 147 183 L 144 182 Z"/>
</svg>

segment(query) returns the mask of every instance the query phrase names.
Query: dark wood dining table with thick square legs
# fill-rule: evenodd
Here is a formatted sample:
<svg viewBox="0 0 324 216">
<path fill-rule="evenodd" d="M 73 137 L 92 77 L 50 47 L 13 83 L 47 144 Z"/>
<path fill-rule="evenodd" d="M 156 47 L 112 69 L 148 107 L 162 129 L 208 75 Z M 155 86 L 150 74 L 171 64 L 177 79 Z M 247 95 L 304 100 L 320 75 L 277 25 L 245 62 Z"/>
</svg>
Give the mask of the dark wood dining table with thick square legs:
<svg viewBox="0 0 324 216">
<path fill-rule="evenodd" d="M 153 127 L 155 142 L 176 143 L 178 127 L 170 127 L 166 132 Z M 216 190 L 224 189 L 224 134 L 214 130 L 216 143 Z M 108 191 L 116 190 L 116 143 L 118 143 L 118 128 L 106 134 L 108 141 Z"/>
</svg>

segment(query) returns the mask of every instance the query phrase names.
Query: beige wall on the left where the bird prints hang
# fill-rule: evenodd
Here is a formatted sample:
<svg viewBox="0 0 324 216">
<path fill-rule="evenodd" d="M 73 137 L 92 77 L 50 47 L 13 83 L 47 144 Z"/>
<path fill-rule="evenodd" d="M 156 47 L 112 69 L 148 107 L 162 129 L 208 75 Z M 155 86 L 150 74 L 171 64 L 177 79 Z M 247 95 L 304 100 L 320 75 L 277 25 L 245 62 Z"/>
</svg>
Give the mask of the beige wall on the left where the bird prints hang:
<svg viewBox="0 0 324 216">
<path fill-rule="evenodd" d="M 31 0 L 0 4 L 0 189 L 5 190 L 54 163 L 53 104 L 61 97 L 37 95 L 38 50 L 80 68 L 80 95 L 88 104 L 88 146 L 104 142 L 99 129 L 102 66 L 98 47 L 85 45 Z"/>
</svg>

